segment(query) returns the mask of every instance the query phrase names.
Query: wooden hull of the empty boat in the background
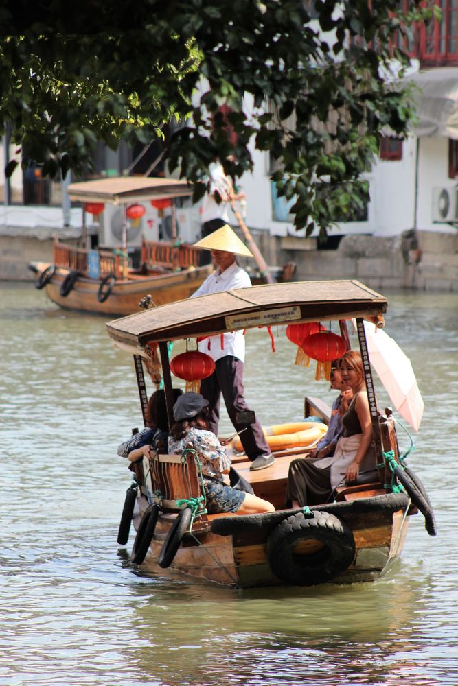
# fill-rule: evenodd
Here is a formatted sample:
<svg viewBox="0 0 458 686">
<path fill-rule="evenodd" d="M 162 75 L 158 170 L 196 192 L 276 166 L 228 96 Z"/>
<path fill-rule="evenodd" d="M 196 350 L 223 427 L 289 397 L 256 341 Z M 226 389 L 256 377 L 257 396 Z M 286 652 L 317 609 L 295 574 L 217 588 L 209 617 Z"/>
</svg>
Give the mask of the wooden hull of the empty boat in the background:
<svg viewBox="0 0 458 686">
<path fill-rule="evenodd" d="M 31 268 L 37 277 L 49 266 L 48 263 L 35 263 Z M 67 296 L 60 294 L 62 283 L 69 274 L 65 268 L 56 268 L 54 275 L 45 285 L 47 296 L 53 303 L 77 311 L 92 312 L 109 316 L 124 316 L 139 311 L 139 301 L 147 294 L 152 296 L 154 305 L 174 303 L 189 298 L 211 273 L 210 266 L 190 268 L 180 272 L 135 276 L 117 280 L 111 294 L 104 303 L 98 300 L 100 281 L 78 276 L 75 285 Z"/>
</svg>

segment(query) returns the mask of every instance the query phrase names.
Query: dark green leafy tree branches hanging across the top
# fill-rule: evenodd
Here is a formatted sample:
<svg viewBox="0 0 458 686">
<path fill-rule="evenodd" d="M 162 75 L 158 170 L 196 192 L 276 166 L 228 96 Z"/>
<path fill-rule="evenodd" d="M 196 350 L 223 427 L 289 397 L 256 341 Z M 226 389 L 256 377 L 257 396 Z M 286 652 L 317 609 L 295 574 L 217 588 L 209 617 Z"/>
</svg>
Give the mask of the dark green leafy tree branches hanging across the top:
<svg viewBox="0 0 458 686">
<path fill-rule="evenodd" d="M 409 99 L 382 69 L 406 63 L 395 32 L 428 16 L 419 0 L 402 15 L 398 0 L 3 2 L 0 127 L 49 176 L 84 176 L 98 141 L 146 144 L 176 121 L 171 170 L 200 182 L 218 156 L 236 178 L 254 140 L 297 228 L 323 232 L 367 199 L 380 130 L 407 130 Z"/>
</svg>

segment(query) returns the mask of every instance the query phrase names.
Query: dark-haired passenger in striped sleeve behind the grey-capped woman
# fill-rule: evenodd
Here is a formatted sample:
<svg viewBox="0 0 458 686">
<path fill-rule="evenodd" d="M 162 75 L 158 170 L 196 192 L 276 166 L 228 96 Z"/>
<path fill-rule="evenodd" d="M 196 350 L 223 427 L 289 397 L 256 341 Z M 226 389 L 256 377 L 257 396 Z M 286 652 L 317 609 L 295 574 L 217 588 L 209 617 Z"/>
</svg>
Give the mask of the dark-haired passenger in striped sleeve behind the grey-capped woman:
<svg viewBox="0 0 458 686">
<path fill-rule="evenodd" d="M 174 388 L 173 394 L 176 401 L 183 394 L 183 391 L 181 388 Z M 130 462 L 137 462 L 144 455 L 150 458 L 151 450 L 158 453 L 167 452 L 168 418 L 163 390 L 155 391 L 150 397 L 146 410 L 146 421 L 148 426 L 118 445 L 117 454 L 119 456 L 128 458 Z"/>
</svg>

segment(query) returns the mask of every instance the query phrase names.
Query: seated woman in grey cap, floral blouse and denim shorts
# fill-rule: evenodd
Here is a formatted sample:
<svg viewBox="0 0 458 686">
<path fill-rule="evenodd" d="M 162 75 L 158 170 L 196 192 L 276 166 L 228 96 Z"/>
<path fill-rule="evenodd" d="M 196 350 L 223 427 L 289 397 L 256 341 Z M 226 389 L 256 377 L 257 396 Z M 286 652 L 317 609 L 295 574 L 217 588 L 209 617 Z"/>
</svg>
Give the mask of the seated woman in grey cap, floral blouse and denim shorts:
<svg viewBox="0 0 458 686">
<path fill-rule="evenodd" d="M 273 512 L 271 503 L 251 493 L 227 486 L 222 475 L 229 473 L 231 458 L 211 431 L 208 431 L 208 401 L 199 393 L 185 393 L 173 406 L 175 423 L 168 438 L 169 453 L 193 448 L 201 462 L 203 487 L 209 514 Z"/>
</svg>

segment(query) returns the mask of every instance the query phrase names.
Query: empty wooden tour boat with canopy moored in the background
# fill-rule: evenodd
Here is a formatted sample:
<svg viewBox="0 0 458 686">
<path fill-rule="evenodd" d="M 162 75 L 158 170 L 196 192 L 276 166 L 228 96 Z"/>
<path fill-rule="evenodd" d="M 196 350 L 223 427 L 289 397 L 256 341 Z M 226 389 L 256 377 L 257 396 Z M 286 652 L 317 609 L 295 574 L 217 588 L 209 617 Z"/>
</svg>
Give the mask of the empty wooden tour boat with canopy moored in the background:
<svg viewBox="0 0 458 686">
<path fill-rule="evenodd" d="M 119 249 L 91 250 L 87 243 L 83 213 L 83 246 L 55 241 L 52 263 L 31 263 L 36 287 L 46 289 L 49 298 L 67 309 L 111 316 L 138 311 L 139 300 L 150 294 L 155 305 L 189 297 L 211 272 L 211 266 L 198 266 L 200 250 L 181 239 L 170 242 L 142 241 L 139 267 L 129 265 L 127 253 L 126 208 L 130 204 L 192 195 L 185 181 L 165 178 L 103 178 L 73 183 L 68 187 L 71 200 L 87 204 L 121 206 L 122 240 Z M 174 222 L 172 221 L 172 227 Z"/>
</svg>

